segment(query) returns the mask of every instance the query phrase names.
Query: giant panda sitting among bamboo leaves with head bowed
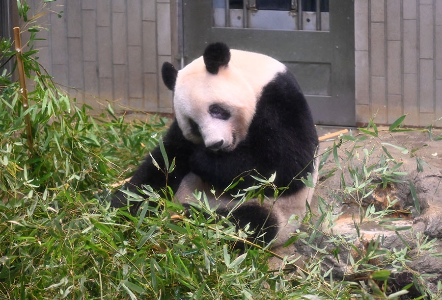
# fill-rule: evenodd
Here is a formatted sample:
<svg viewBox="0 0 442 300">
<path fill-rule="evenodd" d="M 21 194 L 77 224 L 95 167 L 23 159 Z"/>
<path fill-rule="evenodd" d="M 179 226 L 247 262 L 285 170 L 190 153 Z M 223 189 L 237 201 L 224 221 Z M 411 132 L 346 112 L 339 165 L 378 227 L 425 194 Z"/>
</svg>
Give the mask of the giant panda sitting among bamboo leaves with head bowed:
<svg viewBox="0 0 442 300">
<path fill-rule="evenodd" d="M 175 158 L 175 168 L 166 178 L 155 166 L 152 158 L 164 167 L 157 147 L 123 189 L 140 194 L 143 185 L 154 190 L 167 185 L 183 204 L 196 201 L 195 190 L 203 191 L 219 215 L 230 212 L 238 227 L 249 225 L 251 238 L 272 242 L 272 247 L 284 244 L 299 228 L 292 216 L 305 213 L 313 194 L 300 178 L 310 173 L 315 182 L 318 176 L 318 137 L 294 76 L 269 56 L 230 50 L 223 43 L 208 45 L 180 71 L 164 63 L 162 76 L 174 92 L 175 120 L 163 143 L 169 161 Z M 255 185 L 256 176 L 273 174 L 277 187 L 287 187 L 277 199 L 274 189 L 267 188 L 262 197 L 237 205 L 232 195 Z M 221 197 L 212 195 L 211 190 L 221 194 L 235 180 Z M 121 190 L 111 200 L 113 207 L 127 203 Z M 131 204 L 136 214 L 140 202 Z"/>
</svg>

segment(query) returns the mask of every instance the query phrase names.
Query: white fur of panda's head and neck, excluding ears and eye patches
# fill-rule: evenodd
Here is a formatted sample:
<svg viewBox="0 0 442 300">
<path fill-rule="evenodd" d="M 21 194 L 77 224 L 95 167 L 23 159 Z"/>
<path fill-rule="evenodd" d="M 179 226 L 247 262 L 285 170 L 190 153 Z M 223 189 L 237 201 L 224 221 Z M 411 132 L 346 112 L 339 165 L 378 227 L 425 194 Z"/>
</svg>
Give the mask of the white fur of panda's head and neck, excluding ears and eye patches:
<svg viewBox="0 0 442 300">
<path fill-rule="evenodd" d="M 202 57 L 180 70 L 173 99 L 184 136 L 206 146 L 223 140 L 223 150 L 233 150 L 246 137 L 263 87 L 285 70 L 282 63 L 263 54 L 241 50 L 230 53 L 229 64 L 220 67 L 217 75 L 206 71 Z M 211 104 L 227 108 L 231 117 L 214 119 L 208 112 Z M 198 124 L 202 141 L 192 134 L 189 119 Z"/>
</svg>

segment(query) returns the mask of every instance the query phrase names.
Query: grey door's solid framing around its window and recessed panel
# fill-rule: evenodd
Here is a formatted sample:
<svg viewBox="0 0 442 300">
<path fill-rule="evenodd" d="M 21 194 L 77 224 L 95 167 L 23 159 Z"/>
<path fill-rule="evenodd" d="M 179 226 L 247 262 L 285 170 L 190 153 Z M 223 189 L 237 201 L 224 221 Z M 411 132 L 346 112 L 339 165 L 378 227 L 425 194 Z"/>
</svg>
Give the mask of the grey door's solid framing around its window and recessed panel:
<svg viewBox="0 0 442 300">
<path fill-rule="evenodd" d="M 330 95 L 305 95 L 314 121 L 321 125 L 356 125 L 352 0 L 330 1 L 330 31 L 213 27 L 212 1 L 182 3 L 185 64 L 199 57 L 209 43 L 217 41 L 232 49 L 264 53 L 283 63 L 331 64 Z"/>
</svg>

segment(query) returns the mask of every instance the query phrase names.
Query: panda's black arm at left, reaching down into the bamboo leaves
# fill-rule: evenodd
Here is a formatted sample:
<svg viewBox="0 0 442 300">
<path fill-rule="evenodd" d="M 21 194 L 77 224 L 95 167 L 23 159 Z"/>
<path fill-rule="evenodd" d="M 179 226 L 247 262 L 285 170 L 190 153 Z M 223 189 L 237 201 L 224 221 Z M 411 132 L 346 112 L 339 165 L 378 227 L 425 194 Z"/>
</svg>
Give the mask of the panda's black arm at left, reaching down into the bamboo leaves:
<svg viewBox="0 0 442 300">
<path fill-rule="evenodd" d="M 139 189 L 143 185 L 150 185 L 155 191 L 165 188 L 167 185 L 172 191 L 176 192 L 181 180 L 190 171 L 189 155 L 193 149 L 193 144 L 184 138 L 176 120 L 170 125 L 166 136 L 163 139 L 163 143 L 169 163 L 175 158 L 175 168 L 173 172 L 168 174 L 166 178 L 166 175 L 164 174 L 165 162 L 160 147 L 157 146 L 151 151 L 150 155 L 152 155 L 162 170 L 158 170 L 152 162 L 152 157 L 147 155 L 130 181 L 124 185 L 122 188 L 123 190 L 127 189 L 136 194 L 140 194 Z M 114 197 L 111 200 L 112 207 L 122 207 L 125 206 L 126 203 L 126 194 L 120 190 L 114 194 Z M 139 204 L 134 206 L 137 207 L 134 209 L 131 208 L 131 212 L 132 210 L 136 212 Z"/>
</svg>

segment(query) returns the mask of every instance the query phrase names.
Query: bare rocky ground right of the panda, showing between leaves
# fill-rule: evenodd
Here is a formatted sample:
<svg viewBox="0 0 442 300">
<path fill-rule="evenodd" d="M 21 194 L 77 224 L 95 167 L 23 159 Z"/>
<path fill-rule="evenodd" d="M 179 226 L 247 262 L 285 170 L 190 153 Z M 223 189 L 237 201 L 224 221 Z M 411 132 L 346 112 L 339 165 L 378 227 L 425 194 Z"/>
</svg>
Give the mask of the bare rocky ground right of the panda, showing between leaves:
<svg viewBox="0 0 442 300">
<path fill-rule="evenodd" d="M 352 134 L 353 136 L 359 134 L 359 130 L 356 128 L 317 126 L 317 132 L 320 137 L 342 129 L 349 129 L 349 132 L 345 134 Z M 374 148 L 370 159 L 373 158 L 372 162 L 376 162 L 376 159 L 384 152 L 382 146 L 385 146 L 397 162 L 403 163 L 399 171 L 405 172 L 407 175 L 401 178 L 403 180 L 402 183 L 395 183 L 392 186 L 388 186 L 385 190 L 375 190 L 372 196 L 366 199 L 365 205 L 368 205 L 370 200 L 387 199 L 387 196 L 389 196 L 390 199 L 398 199 L 398 204 L 394 208 L 397 209 L 398 212 L 395 217 L 399 220 L 391 222 L 389 225 L 392 227 L 410 226 L 411 229 L 400 231 L 401 237 L 399 237 L 393 229 L 380 226 L 377 222 L 368 222 L 359 228 L 360 245 L 355 246 L 363 247 L 363 244 L 367 241 L 381 237 L 382 243 L 380 247 L 384 249 L 403 249 L 406 247 L 404 243 L 407 243 L 411 247 L 409 251 L 415 251 L 412 245 L 416 245 L 417 237 L 428 236 L 430 239 L 438 240 L 439 245 L 436 247 L 435 252 L 442 253 L 442 140 L 431 140 L 428 132 L 416 130 L 412 132 L 388 133 L 387 129 L 387 127 L 378 128 L 379 137 L 370 136 L 363 142 L 363 145 L 358 151 L 362 153 L 363 148 L 368 150 Z M 441 137 L 442 129 L 433 129 L 433 135 Z M 339 142 L 338 137 L 322 141 L 320 143 L 319 153 L 333 146 L 334 142 Z M 397 149 L 390 145 L 403 147 L 408 151 Z M 351 146 L 343 144 L 342 147 Z M 344 151 L 339 154 L 341 160 L 345 160 L 345 155 L 342 154 L 343 152 Z M 416 155 L 425 162 L 421 163 L 424 167 L 423 171 L 417 170 Z M 361 157 L 359 158 L 361 160 Z M 356 165 L 358 168 L 358 162 L 356 162 Z M 361 161 L 359 161 L 359 167 L 360 166 Z M 325 162 L 322 171 L 327 172 L 335 167 L 336 163 L 333 154 L 331 154 Z M 346 178 L 347 175 L 348 174 L 344 174 L 344 177 Z M 326 202 L 333 203 L 333 213 L 335 213 L 337 217 L 333 231 L 335 233 L 339 232 L 342 236 L 355 236 L 354 218 L 359 215 L 359 204 L 356 205 L 357 203 L 354 203 L 354 200 L 345 199 L 345 197 L 344 200 L 337 201 L 331 196 L 331 190 L 333 190 L 334 193 L 336 193 L 336 191 L 339 193 L 339 189 L 341 188 L 340 180 L 341 176 L 339 174 L 328 178 L 324 175 L 320 176 L 315 189 L 316 197 L 312 199 L 311 207 L 318 206 L 317 199 L 319 196 Z M 415 197 L 412 195 L 410 182 L 414 185 L 415 195 L 419 202 L 418 206 L 420 206 L 418 210 L 420 211 L 416 210 L 414 203 Z M 316 243 L 319 249 L 328 247 L 327 239 L 318 240 Z M 331 247 L 334 246 L 331 245 Z M 291 249 L 277 252 L 282 255 L 298 253 L 306 258 L 314 257 L 315 255 L 315 250 L 298 242 L 295 243 Z M 348 261 L 348 254 L 348 250 L 342 249 L 339 253 L 339 260 L 336 260 L 333 255 L 330 255 L 324 262 L 324 270 L 326 271 L 332 268 L 333 278 L 344 277 L 348 274 L 349 266 L 345 263 Z M 430 278 L 431 288 L 437 290 L 437 282 L 438 280 L 442 280 L 442 258 L 429 254 L 430 253 L 425 253 L 412 259 L 409 267 L 415 272 L 429 275 L 428 278 Z M 410 276 L 407 275 L 405 278 L 410 279 Z M 403 286 L 406 284 L 407 282 L 402 283 Z"/>
</svg>

